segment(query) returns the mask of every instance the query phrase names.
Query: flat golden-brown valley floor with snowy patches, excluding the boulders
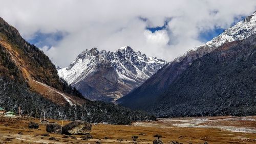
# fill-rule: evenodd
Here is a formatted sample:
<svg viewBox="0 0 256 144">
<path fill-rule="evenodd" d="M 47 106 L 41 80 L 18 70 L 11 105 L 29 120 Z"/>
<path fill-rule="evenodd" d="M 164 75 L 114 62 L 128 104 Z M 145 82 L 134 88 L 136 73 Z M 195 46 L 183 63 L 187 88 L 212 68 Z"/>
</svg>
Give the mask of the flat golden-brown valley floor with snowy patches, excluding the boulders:
<svg viewBox="0 0 256 144">
<path fill-rule="evenodd" d="M 81 135 L 72 139 L 53 133 L 44 137 L 41 135 L 47 134 L 46 126 L 40 125 L 38 130 L 31 130 L 28 129 L 29 121 L 39 123 L 39 119 L 0 117 L 0 143 L 135 143 L 131 138 L 134 135 L 138 136 L 137 143 L 153 143 L 155 134 L 161 135 L 164 143 L 256 142 L 256 116 L 160 118 L 156 122 L 136 122 L 132 126 L 94 124 L 91 131 L 93 139 L 89 140 L 81 140 Z M 61 121 L 53 119 L 50 122 L 61 124 Z M 68 123 L 63 121 L 63 125 Z M 57 140 L 49 140 L 50 137 Z"/>
</svg>

